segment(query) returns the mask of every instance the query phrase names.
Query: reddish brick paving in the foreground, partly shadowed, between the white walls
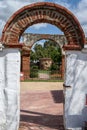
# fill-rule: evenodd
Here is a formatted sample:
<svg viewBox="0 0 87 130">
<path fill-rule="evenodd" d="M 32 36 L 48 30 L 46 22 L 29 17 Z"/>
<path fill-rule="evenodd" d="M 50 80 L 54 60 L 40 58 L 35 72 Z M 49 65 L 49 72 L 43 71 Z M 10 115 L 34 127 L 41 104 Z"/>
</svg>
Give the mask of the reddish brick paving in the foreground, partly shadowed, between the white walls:
<svg viewBox="0 0 87 130">
<path fill-rule="evenodd" d="M 19 130 L 64 130 L 63 91 L 22 92 L 20 119 Z"/>
</svg>

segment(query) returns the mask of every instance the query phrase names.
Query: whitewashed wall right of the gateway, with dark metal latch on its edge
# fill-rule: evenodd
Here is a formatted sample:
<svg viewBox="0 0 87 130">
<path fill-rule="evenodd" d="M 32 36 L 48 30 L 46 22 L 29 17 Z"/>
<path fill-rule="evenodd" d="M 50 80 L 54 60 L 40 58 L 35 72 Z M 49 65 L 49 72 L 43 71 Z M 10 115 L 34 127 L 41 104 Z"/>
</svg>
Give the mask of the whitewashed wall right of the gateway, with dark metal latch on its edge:
<svg viewBox="0 0 87 130">
<path fill-rule="evenodd" d="M 65 74 L 65 126 L 66 129 L 82 130 L 87 121 L 87 53 L 66 52 Z"/>
</svg>

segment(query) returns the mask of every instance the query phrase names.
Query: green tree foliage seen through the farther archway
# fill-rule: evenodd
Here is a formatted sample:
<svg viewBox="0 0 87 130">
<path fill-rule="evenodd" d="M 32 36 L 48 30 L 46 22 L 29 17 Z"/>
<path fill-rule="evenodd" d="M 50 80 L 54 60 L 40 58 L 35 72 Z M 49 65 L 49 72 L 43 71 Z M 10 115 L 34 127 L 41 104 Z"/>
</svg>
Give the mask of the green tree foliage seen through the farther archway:
<svg viewBox="0 0 87 130">
<path fill-rule="evenodd" d="M 36 44 L 31 50 L 31 61 L 39 61 L 40 58 L 51 58 L 53 63 L 61 63 L 61 49 L 54 41 L 45 41 L 43 45 Z"/>
</svg>

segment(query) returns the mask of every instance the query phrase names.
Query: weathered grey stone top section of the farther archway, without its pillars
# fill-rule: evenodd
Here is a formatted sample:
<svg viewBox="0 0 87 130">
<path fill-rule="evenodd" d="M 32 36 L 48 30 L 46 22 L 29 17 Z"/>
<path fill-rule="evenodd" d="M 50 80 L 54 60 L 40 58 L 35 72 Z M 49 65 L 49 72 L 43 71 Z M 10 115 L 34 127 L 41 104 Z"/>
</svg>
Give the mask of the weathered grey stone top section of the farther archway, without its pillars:
<svg viewBox="0 0 87 130">
<path fill-rule="evenodd" d="M 59 45 L 61 49 L 63 49 L 64 45 L 67 45 L 67 39 L 64 35 L 57 34 L 33 34 L 33 33 L 24 33 L 22 35 L 23 43 L 28 46 L 30 49 L 37 41 L 46 39 L 52 40 Z M 62 50 L 63 51 L 63 50 Z"/>
</svg>

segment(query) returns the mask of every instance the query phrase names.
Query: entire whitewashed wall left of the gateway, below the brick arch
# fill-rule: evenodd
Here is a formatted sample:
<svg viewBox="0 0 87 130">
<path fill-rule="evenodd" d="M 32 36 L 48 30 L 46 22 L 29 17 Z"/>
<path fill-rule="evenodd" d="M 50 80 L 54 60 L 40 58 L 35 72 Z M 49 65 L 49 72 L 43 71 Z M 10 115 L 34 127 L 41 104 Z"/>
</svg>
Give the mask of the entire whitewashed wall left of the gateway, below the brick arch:
<svg viewBox="0 0 87 130">
<path fill-rule="evenodd" d="M 0 52 L 0 81 L 0 130 L 17 130 L 20 116 L 19 49 Z"/>
</svg>

